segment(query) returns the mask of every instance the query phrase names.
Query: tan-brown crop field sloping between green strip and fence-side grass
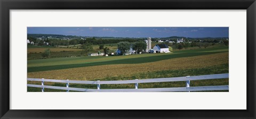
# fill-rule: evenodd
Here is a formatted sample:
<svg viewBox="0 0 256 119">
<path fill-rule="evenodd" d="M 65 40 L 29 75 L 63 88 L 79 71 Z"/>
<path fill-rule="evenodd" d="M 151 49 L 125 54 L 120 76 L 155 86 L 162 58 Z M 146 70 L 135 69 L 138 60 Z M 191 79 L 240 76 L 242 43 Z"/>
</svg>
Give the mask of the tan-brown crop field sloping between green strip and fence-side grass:
<svg viewBox="0 0 256 119">
<path fill-rule="evenodd" d="M 119 75 L 163 70 L 197 69 L 215 65 L 228 64 L 228 52 L 194 57 L 172 58 L 141 64 L 116 64 L 79 67 L 73 69 L 30 72 L 28 78 L 61 79 L 61 80 L 99 80 Z"/>
</svg>

